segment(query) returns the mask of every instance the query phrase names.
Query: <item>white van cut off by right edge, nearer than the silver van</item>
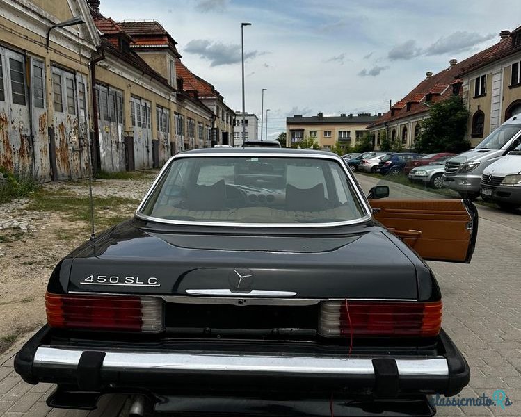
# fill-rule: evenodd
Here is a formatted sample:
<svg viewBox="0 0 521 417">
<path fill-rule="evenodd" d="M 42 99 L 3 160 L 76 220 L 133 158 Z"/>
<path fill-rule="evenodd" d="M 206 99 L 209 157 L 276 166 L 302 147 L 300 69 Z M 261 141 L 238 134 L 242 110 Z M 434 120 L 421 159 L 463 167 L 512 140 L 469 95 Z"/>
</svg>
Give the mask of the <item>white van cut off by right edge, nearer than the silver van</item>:
<svg viewBox="0 0 521 417">
<path fill-rule="evenodd" d="M 521 207 L 521 145 L 485 168 L 481 198 L 504 210 Z"/>
</svg>

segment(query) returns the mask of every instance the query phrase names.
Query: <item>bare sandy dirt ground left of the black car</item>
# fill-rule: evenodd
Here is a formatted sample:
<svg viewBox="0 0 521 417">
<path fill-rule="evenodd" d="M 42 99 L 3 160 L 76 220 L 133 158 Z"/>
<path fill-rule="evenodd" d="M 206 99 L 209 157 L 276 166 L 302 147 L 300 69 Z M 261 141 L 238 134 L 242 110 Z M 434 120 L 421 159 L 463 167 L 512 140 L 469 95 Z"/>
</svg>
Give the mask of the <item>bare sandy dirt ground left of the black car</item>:
<svg viewBox="0 0 521 417">
<path fill-rule="evenodd" d="M 126 202 L 112 210 L 95 208 L 96 215 L 130 217 L 156 174 L 93 181 L 95 197 L 120 197 Z M 88 181 L 47 183 L 42 193 L 51 198 L 86 197 Z M 20 334 L 45 323 L 44 295 L 54 265 L 89 238 L 88 222 L 73 220 L 63 211 L 27 209 L 32 203 L 29 197 L 0 204 L 0 352 Z"/>
</svg>

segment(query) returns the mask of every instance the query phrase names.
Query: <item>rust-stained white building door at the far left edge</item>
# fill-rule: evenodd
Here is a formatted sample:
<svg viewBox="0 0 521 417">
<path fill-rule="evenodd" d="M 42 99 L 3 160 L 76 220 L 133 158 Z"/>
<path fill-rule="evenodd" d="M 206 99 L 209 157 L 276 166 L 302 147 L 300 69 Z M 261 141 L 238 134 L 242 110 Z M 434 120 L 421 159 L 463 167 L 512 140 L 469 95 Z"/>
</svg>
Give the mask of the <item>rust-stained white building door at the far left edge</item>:
<svg viewBox="0 0 521 417">
<path fill-rule="evenodd" d="M 34 175 L 26 58 L 0 47 L 0 166 Z"/>
</svg>

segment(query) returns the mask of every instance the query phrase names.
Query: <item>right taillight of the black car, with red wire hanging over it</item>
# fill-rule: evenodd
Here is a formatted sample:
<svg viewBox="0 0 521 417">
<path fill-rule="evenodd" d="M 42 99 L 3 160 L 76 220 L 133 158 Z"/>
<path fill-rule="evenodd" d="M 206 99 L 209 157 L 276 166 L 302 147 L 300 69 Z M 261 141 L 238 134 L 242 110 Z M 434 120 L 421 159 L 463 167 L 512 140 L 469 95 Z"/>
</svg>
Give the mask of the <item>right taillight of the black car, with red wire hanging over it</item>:
<svg viewBox="0 0 521 417">
<path fill-rule="evenodd" d="M 349 309 L 349 316 L 347 314 Z M 436 336 L 442 326 L 442 302 L 321 303 L 322 336 Z M 351 319 L 351 327 L 349 326 Z"/>
</svg>

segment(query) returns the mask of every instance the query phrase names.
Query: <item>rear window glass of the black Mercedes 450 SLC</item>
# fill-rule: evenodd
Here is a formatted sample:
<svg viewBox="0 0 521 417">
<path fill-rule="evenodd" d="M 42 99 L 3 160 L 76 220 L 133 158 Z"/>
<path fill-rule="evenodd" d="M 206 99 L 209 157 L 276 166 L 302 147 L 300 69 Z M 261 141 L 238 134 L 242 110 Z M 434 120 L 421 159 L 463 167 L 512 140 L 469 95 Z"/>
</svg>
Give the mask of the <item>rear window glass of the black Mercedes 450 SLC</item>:
<svg viewBox="0 0 521 417">
<path fill-rule="evenodd" d="M 344 168 L 326 158 L 174 159 L 140 206 L 161 220 L 306 224 L 368 215 Z"/>
</svg>

